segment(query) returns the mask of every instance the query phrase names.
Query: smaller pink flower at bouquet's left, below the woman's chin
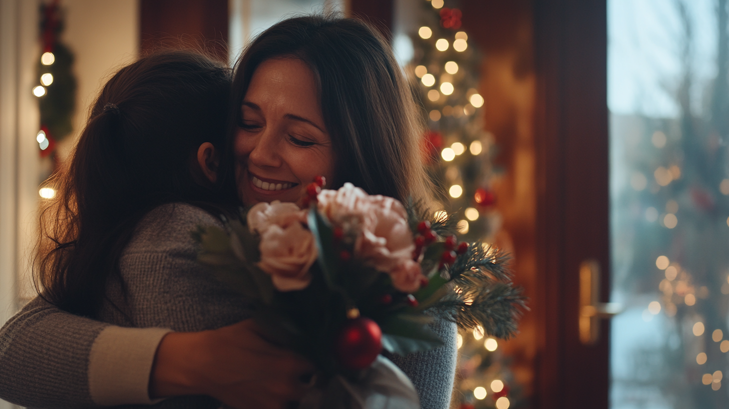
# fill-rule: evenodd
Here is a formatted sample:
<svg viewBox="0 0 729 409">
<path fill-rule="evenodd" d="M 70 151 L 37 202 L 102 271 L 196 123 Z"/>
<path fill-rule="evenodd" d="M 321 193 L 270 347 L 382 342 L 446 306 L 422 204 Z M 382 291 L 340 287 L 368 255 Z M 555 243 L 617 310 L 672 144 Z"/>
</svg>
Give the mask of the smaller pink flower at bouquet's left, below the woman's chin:
<svg viewBox="0 0 729 409">
<path fill-rule="evenodd" d="M 305 288 L 311 282 L 309 267 L 316 261 L 313 235 L 304 228 L 305 210 L 296 204 L 261 202 L 249 210 L 248 226 L 261 235 L 261 261 L 279 291 Z"/>
</svg>

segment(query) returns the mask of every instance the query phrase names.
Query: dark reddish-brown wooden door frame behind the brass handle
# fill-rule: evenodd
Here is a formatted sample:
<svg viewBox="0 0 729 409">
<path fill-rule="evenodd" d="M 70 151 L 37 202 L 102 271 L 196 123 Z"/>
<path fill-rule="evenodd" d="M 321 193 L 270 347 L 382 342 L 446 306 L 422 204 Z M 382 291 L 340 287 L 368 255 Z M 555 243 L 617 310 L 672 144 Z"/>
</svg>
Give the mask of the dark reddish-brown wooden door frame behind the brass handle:
<svg viewBox="0 0 729 409">
<path fill-rule="evenodd" d="M 609 297 L 607 0 L 534 0 L 539 294 L 535 408 L 607 409 L 609 323 L 582 345 L 579 266 Z"/>
</svg>

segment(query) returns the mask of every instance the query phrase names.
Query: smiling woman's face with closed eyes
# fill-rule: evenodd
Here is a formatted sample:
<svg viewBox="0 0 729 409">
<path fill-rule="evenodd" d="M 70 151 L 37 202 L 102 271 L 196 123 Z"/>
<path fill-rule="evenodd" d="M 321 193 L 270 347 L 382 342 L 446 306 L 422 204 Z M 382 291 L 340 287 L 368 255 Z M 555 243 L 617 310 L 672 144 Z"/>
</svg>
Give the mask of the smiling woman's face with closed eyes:
<svg viewBox="0 0 729 409">
<path fill-rule="evenodd" d="M 334 153 L 314 74 L 297 59 L 264 61 L 241 104 L 235 175 L 245 204 L 299 202 L 316 175 L 332 180 Z"/>
</svg>

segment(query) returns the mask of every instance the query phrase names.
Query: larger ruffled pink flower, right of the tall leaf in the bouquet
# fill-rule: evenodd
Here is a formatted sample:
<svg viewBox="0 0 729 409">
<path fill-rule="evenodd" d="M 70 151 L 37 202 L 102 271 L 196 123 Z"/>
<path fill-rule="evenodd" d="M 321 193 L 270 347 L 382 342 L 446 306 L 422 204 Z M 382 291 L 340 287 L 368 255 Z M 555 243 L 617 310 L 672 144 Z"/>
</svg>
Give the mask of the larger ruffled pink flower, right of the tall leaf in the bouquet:
<svg viewBox="0 0 729 409">
<path fill-rule="evenodd" d="M 420 264 L 413 261 L 413 232 L 402 203 L 387 196 L 370 196 L 351 183 L 338 191 L 321 191 L 318 199 L 319 211 L 333 223 L 358 219 L 362 232 L 354 244 L 356 256 L 389 273 L 399 291 L 419 288 L 422 273 Z"/>
</svg>

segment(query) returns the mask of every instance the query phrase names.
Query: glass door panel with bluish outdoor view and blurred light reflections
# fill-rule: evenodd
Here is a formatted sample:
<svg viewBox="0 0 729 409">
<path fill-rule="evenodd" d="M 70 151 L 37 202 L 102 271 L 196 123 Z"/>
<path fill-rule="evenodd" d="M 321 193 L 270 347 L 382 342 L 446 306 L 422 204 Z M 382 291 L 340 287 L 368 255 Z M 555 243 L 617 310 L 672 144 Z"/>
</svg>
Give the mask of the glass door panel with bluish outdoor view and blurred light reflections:
<svg viewBox="0 0 729 409">
<path fill-rule="evenodd" d="M 610 407 L 729 408 L 727 0 L 608 0 Z"/>
</svg>

